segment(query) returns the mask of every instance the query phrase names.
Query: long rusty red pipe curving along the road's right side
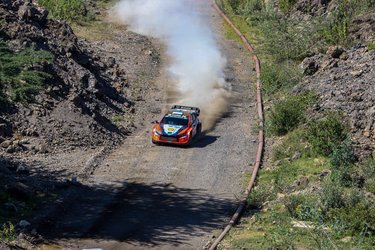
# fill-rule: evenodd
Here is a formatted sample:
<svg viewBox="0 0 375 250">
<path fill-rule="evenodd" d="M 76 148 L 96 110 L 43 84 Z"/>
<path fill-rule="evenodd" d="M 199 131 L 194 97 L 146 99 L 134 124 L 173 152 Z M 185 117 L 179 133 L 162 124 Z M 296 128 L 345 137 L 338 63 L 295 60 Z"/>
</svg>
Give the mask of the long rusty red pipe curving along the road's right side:
<svg viewBox="0 0 375 250">
<path fill-rule="evenodd" d="M 213 1 L 213 6 L 217 10 L 217 12 L 220 13 L 220 15 L 225 19 L 226 22 L 236 31 L 236 33 L 240 36 L 241 40 L 245 43 L 246 47 L 250 52 L 253 52 L 253 48 L 250 46 L 248 40 L 246 40 L 245 36 L 234 26 L 234 24 L 231 22 L 231 20 L 228 19 L 228 17 L 220 10 L 219 6 L 216 4 L 216 0 Z M 263 145 L 264 145 L 264 136 L 263 136 L 263 109 L 262 109 L 262 96 L 260 92 L 260 64 L 259 64 L 259 59 L 257 55 L 254 55 L 254 60 L 255 60 L 255 70 L 257 72 L 257 106 L 258 106 L 258 116 L 260 118 L 259 126 L 259 142 L 258 142 L 258 153 L 257 153 L 257 159 L 254 164 L 254 171 L 251 176 L 251 181 L 249 182 L 248 187 L 246 188 L 245 195 L 243 196 L 239 207 L 236 210 L 236 213 L 234 213 L 232 219 L 228 223 L 228 226 L 225 227 L 224 231 L 220 234 L 219 237 L 217 237 L 216 241 L 212 244 L 209 250 L 215 250 L 217 245 L 220 243 L 220 241 L 224 238 L 226 233 L 229 232 L 229 229 L 234 225 L 234 223 L 237 222 L 237 219 L 240 217 L 241 213 L 243 212 L 245 205 L 246 205 L 246 199 L 248 198 L 249 192 L 251 191 L 255 178 L 257 177 L 258 169 L 260 167 L 260 163 L 262 160 L 262 152 L 263 152 Z"/>
</svg>

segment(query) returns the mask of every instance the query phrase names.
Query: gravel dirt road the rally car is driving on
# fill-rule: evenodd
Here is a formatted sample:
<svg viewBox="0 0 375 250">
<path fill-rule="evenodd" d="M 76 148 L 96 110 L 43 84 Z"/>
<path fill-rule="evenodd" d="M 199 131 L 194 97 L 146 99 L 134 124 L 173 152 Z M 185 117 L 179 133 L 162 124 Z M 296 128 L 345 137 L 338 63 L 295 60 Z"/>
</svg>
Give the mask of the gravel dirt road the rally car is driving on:
<svg viewBox="0 0 375 250">
<path fill-rule="evenodd" d="M 228 60 L 230 112 L 188 148 L 153 145 L 151 121 L 179 99 L 173 79 L 162 73 L 145 90 L 152 97 L 145 105 L 149 115 L 135 117 L 136 132 L 90 175 L 90 187 L 67 208 L 51 239 L 105 250 L 202 249 L 210 232 L 229 219 L 234 195 L 245 187 L 240 174 L 252 170 L 257 149 L 253 60 L 243 45 L 221 35 L 223 21 L 210 0 L 197 11 Z M 162 61 L 166 69 L 168 60 Z"/>
</svg>

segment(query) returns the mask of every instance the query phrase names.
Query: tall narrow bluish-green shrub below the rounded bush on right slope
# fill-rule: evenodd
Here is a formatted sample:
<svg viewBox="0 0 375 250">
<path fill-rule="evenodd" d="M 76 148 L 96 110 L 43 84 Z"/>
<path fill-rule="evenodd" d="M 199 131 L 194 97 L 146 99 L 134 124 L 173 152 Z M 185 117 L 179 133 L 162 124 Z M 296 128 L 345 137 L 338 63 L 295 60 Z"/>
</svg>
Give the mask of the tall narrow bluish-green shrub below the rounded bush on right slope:
<svg viewBox="0 0 375 250">
<path fill-rule="evenodd" d="M 348 136 L 340 147 L 332 149 L 330 154 L 331 178 L 343 186 L 349 186 L 350 169 L 354 161 L 354 152 Z"/>
</svg>

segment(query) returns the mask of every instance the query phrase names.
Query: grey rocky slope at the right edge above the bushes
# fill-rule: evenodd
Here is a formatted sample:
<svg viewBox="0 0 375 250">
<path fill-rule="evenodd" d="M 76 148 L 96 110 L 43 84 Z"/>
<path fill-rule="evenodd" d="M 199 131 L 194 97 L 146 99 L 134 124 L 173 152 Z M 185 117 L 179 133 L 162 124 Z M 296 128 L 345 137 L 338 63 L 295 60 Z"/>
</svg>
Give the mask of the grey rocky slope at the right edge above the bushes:
<svg viewBox="0 0 375 250">
<path fill-rule="evenodd" d="M 308 73 L 303 85 L 320 94 L 314 111 L 341 110 L 349 118 L 355 151 L 365 156 L 375 149 L 375 50 L 358 44 L 331 46 L 300 64 Z"/>
</svg>

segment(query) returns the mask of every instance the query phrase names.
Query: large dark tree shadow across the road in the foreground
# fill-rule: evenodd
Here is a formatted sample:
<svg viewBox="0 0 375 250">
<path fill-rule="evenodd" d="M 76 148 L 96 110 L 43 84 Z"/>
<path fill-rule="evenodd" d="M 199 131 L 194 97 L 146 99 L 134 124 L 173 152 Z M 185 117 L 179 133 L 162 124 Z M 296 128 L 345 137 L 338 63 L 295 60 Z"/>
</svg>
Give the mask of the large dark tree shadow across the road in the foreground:
<svg viewBox="0 0 375 250">
<path fill-rule="evenodd" d="M 86 190 L 83 197 L 52 232 L 51 240 L 177 246 L 222 228 L 223 214 L 233 204 L 232 199 L 207 195 L 203 189 L 158 183 L 125 182 L 118 189 L 102 186 Z"/>
</svg>

